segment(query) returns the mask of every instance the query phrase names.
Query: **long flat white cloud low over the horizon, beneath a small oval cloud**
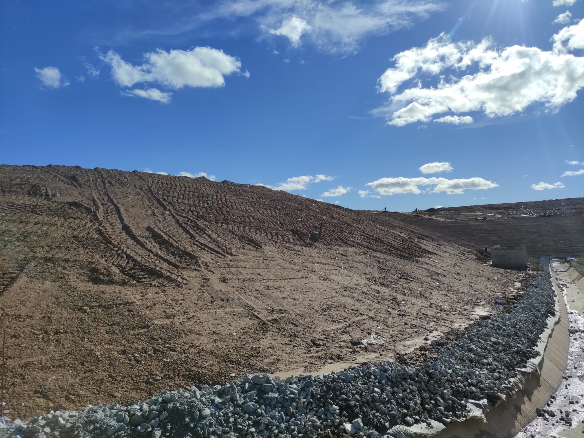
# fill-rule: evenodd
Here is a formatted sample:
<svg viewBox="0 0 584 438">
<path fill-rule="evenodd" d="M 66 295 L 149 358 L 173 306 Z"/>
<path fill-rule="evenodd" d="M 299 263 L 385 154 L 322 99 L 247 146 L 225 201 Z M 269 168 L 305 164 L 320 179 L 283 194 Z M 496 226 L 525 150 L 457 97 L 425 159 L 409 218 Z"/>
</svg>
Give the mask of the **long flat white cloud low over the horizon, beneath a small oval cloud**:
<svg viewBox="0 0 584 438">
<path fill-rule="evenodd" d="M 392 195 L 397 193 L 422 193 L 418 186 L 436 186 L 430 193 L 462 194 L 464 190 L 486 190 L 498 187 L 497 183 L 482 178 L 446 179 L 446 178 L 381 178 L 366 184 L 377 193 Z"/>
</svg>

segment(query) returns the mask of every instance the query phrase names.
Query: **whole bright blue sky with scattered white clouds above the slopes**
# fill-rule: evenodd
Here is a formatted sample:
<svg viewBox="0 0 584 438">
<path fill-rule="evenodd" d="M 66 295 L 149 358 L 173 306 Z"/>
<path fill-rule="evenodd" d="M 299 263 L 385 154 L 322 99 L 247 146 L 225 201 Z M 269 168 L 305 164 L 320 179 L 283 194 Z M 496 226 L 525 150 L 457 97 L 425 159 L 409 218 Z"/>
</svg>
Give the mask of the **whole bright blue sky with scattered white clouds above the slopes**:
<svg viewBox="0 0 584 438">
<path fill-rule="evenodd" d="M 5 0 L 0 162 L 391 211 L 583 196 L 584 0 L 353 1 Z"/>
</svg>

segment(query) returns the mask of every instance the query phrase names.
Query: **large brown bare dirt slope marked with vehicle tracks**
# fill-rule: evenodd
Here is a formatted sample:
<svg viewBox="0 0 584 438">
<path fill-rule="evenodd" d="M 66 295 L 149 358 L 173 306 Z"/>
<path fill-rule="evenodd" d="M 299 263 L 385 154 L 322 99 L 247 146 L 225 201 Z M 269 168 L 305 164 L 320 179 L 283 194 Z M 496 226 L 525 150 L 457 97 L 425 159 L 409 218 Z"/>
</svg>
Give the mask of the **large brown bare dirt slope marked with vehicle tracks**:
<svg viewBox="0 0 584 438">
<path fill-rule="evenodd" d="M 11 416 L 391 358 L 515 294 L 524 274 L 419 230 L 228 181 L 0 166 Z"/>
</svg>

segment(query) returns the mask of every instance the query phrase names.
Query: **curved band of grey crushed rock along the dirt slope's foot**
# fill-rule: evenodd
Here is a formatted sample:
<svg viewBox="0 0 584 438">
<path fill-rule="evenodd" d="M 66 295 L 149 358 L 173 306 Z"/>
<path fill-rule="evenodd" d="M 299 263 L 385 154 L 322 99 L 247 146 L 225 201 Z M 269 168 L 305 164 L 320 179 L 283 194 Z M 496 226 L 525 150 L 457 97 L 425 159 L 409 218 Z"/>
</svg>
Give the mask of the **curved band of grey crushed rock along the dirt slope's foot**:
<svg viewBox="0 0 584 438">
<path fill-rule="evenodd" d="M 15 420 L 0 429 L 0 435 L 511 436 L 485 419 L 515 399 L 526 383 L 541 386 L 530 378 L 545 369 L 542 353 L 562 318 L 548 260 L 540 263 L 543 272 L 531 279 L 521 300 L 471 326 L 456 342 L 435 346 L 425 364 L 402 357 L 398 363 L 325 376 L 246 376 L 225 386 L 163 391 L 129 406 L 87 406 L 78 412 L 39 415 L 27 423 Z M 525 423 L 533 419 L 529 415 Z"/>
</svg>

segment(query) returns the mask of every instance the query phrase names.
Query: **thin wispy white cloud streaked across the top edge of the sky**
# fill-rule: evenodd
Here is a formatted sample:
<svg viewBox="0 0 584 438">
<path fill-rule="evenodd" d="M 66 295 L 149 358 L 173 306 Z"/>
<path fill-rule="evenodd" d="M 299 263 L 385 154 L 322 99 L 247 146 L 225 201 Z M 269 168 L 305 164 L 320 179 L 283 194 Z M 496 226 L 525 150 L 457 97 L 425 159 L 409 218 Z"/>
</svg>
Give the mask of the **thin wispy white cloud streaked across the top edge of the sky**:
<svg viewBox="0 0 584 438">
<path fill-rule="evenodd" d="M 127 28 L 112 42 L 204 28 L 223 35 L 245 32 L 276 42 L 286 39 L 292 47 L 305 41 L 319 51 L 346 55 L 357 53 L 367 37 L 404 29 L 445 8 L 440 0 L 218 0 L 212 5 L 166 6 L 165 12 L 172 9 L 174 22 L 150 29 Z M 228 32 L 222 25 L 228 26 Z"/>
</svg>

